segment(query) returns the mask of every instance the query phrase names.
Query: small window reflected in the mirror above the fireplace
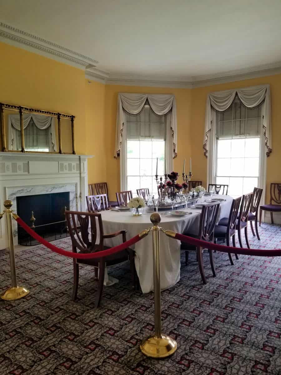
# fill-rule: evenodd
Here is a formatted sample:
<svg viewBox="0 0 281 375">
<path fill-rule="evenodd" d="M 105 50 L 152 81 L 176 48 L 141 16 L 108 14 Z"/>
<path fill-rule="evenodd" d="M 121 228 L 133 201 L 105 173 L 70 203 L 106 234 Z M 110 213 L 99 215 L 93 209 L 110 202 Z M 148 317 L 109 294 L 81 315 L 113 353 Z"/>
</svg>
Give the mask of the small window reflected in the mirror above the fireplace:
<svg viewBox="0 0 281 375">
<path fill-rule="evenodd" d="M 31 118 L 24 129 L 24 148 L 26 151 L 49 152 L 50 129 L 39 129 Z M 16 130 L 17 143 L 21 144 L 21 132 Z"/>
</svg>

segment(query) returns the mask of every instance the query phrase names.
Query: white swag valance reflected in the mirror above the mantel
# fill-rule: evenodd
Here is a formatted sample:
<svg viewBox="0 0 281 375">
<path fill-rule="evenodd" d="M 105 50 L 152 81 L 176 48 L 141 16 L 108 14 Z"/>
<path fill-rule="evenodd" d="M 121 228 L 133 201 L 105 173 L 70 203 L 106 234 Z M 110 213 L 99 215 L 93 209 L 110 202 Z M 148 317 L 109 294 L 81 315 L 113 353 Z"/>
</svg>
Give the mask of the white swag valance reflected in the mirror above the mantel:
<svg viewBox="0 0 281 375">
<path fill-rule="evenodd" d="M 51 116 L 45 116 L 40 114 L 23 114 L 23 127 L 24 129 L 33 120 L 34 124 L 38 129 L 47 129 L 49 127 L 49 150 L 57 151 L 57 142 L 55 139 L 55 119 Z M 21 130 L 21 123 L 19 114 L 9 115 L 8 120 L 8 145 L 9 150 L 17 150 L 18 145 L 16 145 L 16 130 Z"/>
</svg>

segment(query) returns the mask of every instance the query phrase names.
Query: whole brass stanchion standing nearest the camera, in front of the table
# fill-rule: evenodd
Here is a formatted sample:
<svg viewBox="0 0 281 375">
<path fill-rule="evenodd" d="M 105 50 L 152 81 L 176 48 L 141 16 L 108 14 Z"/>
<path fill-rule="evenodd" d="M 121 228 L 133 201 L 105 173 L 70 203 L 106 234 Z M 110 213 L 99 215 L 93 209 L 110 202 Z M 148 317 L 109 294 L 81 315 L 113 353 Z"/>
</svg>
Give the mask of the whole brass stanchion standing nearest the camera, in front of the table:
<svg viewBox="0 0 281 375">
<path fill-rule="evenodd" d="M 143 354 L 153 358 L 169 357 L 176 351 L 176 341 L 167 335 L 161 333 L 161 288 L 160 288 L 160 247 L 159 247 L 159 226 L 161 216 L 158 213 L 152 213 L 150 216 L 152 222 L 153 236 L 153 281 L 154 281 L 154 325 L 155 333 L 143 339 L 140 348 Z"/>
</svg>

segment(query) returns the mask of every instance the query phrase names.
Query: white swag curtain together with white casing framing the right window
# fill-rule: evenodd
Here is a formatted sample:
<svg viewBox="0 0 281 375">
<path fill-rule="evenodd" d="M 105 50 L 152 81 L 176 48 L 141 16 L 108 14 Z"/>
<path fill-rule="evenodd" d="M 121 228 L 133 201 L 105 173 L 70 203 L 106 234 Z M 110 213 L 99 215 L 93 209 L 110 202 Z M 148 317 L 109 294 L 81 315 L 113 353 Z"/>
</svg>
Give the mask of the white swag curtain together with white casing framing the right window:
<svg viewBox="0 0 281 375">
<path fill-rule="evenodd" d="M 208 158 L 207 186 L 215 183 L 215 158 L 216 158 L 216 125 L 217 113 L 229 108 L 236 95 L 247 108 L 255 108 L 262 105 L 263 121 L 260 129 L 260 186 L 263 189 L 262 200 L 264 201 L 266 187 L 266 156 L 272 152 L 271 143 L 271 93 L 269 85 L 246 87 L 244 89 L 233 89 L 209 93 L 206 101 L 205 111 L 205 133 L 203 139 L 204 155 Z M 263 138 L 263 141 L 262 141 Z M 254 187 L 253 187 L 254 188 Z"/>
</svg>

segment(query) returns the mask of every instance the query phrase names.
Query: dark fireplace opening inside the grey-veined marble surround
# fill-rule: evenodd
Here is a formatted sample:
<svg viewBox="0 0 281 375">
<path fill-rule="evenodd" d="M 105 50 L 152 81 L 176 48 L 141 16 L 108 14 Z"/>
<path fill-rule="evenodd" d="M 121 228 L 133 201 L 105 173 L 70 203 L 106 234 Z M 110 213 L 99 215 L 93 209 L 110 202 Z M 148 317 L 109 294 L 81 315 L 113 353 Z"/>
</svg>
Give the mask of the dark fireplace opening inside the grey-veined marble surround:
<svg viewBox="0 0 281 375">
<path fill-rule="evenodd" d="M 63 192 L 18 196 L 16 197 L 16 211 L 25 223 L 29 224 L 37 234 L 47 241 L 58 240 L 67 237 L 64 211 L 69 209 L 69 195 L 69 192 Z M 19 225 L 18 243 L 26 246 L 38 245 L 38 241 L 34 240 Z"/>
</svg>

